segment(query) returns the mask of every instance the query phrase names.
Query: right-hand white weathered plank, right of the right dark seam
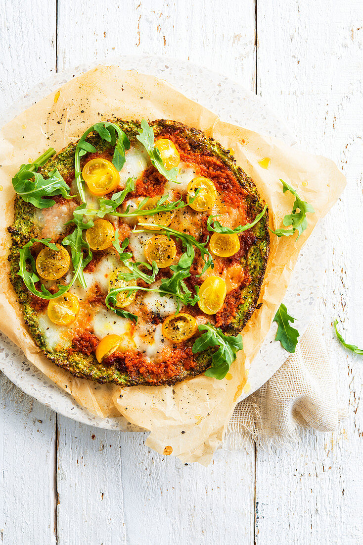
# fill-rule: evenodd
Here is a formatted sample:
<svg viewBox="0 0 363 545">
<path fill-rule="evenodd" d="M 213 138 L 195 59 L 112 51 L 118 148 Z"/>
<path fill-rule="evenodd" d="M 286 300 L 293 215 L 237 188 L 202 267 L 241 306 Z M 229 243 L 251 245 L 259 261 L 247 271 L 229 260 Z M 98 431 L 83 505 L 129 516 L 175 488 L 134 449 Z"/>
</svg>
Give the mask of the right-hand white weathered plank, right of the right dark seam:
<svg viewBox="0 0 363 545">
<path fill-rule="evenodd" d="M 259 0 L 257 3 L 257 92 L 286 119 L 298 141 L 334 159 L 348 187 L 328 220 L 327 275 L 319 310 L 341 390 L 349 381 L 349 416 L 340 432 L 304 434 L 291 451 L 258 452 L 256 542 L 361 542 L 363 479 L 359 405 L 363 367 L 342 349 L 331 324 L 340 317 L 354 343 L 363 343 L 360 310 L 363 227 L 363 7 Z"/>
</svg>

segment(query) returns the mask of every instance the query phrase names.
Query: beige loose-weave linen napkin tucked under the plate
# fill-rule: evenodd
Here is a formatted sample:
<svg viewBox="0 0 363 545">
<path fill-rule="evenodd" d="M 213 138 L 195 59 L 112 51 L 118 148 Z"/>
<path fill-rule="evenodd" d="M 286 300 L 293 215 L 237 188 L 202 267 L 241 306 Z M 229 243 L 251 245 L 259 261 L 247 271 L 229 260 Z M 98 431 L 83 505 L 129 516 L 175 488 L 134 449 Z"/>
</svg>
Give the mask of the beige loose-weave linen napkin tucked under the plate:
<svg viewBox="0 0 363 545">
<path fill-rule="evenodd" d="M 346 409 L 339 403 L 337 372 L 319 321 L 313 320 L 279 371 L 238 403 L 223 447 L 238 450 L 254 440 L 261 447 L 288 445 L 298 440 L 302 428 L 337 428 Z"/>
</svg>

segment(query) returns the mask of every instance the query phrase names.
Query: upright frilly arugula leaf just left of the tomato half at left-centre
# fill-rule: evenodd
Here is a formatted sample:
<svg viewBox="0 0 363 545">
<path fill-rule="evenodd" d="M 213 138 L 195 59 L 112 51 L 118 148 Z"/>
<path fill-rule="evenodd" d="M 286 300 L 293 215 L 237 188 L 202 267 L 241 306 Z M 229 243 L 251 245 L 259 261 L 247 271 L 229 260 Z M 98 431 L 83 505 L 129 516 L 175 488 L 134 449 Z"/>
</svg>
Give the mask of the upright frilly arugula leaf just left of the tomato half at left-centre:
<svg viewBox="0 0 363 545">
<path fill-rule="evenodd" d="M 85 207 L 86 204 L 83 203 L 78 208 L 76 208 L 76 210 L 84 210 Z M 74 223 L 76 228 L 73 233 L 67 235 L 67 237 L 63 239 L 62 244 L 64 246 L 71 247 L 71 259 L 73 269 L 75 270 L 75 278 L 73 278 L 73 282 L 76 280 L 76 278 L 78 278 L 79 283 L 85 289 L 87 288 L 87 284 L 84 280 L 83 269 L 91 261 L 92 252 L 88 242 L 83 239 L 83 231 L 84 229 L 89 229 L 90 227 L 93 227 L 94 223 L 93 221 L 83 223 L 83 217 L 78 216 L 76 214 L 76 210 L 73 211 L 73 220 L 70 220 L 66 223 L 66 225 Z M 84 257 L 83 255 L 83 250 L 87 252 L 86 257 Z"/>
</svg>

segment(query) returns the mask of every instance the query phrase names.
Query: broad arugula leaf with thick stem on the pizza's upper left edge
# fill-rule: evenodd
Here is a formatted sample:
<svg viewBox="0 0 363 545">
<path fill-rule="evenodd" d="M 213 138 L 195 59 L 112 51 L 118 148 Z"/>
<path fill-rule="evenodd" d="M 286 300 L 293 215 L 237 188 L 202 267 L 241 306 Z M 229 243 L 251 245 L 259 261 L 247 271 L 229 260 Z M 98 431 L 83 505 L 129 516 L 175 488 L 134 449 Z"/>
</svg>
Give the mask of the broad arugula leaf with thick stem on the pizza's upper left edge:
<svg viewBox="0 0 363 545">
<path fill-rule="evenodd" d="M 17 195 L 25 202 L 32 203 L 36 208 L 50 208 L 56 202 L 53 199 L 44 197 L 54 197 L 61 195 L 66 199 L 71 199 L 70 189 L 61 177 L 57 169 L 48 173 L 49 177 L 45 180 L 39 172 L 39 167 L 46 164 L 56 150 L 49 148 L 32 163 L 21 165 L 20 170 L 11 180 Z"/>
</svg>

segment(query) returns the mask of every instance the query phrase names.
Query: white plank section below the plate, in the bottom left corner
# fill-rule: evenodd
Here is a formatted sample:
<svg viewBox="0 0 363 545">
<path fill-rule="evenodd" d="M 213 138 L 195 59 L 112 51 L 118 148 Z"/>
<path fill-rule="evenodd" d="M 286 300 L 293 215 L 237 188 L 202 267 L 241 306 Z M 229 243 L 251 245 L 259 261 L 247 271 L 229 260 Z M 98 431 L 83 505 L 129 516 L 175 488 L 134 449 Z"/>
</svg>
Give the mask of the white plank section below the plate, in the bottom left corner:
<svg viewBox="0 0 363 545">
<path fill-rule="evenodd" d="M 56 543 L 56 415 L 0 375 L 0 542 Z"/>
</svg>

